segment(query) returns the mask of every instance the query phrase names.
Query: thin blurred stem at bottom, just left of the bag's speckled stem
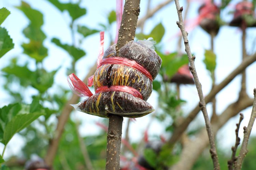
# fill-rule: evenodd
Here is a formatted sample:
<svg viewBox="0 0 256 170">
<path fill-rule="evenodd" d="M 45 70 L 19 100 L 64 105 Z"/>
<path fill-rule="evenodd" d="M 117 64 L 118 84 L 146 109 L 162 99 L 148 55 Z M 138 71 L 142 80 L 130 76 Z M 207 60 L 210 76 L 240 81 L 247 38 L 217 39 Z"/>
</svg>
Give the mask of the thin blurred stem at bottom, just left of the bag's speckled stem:
<svg viewBox="0 0 256 170">
<path fill-rule="evenodd" d="M 77 137 L 78 137 L 78 140 L 79 140 L 79 146 L 80 146 L 81 152 L 82 152 L 83 157 L 84 157 L 84 162 L 85 162 L 86 168 L 88 170 L 93 170 L 94 169 L 93 164 L 91 163 L 90 156 L 88 154 L 87 148 L 84 144 L 83 138 L 81 137 L 81 135 L 79 133 L 79 122 L 75 123 L 75 129 L 76 129 Z"/>
</svg>

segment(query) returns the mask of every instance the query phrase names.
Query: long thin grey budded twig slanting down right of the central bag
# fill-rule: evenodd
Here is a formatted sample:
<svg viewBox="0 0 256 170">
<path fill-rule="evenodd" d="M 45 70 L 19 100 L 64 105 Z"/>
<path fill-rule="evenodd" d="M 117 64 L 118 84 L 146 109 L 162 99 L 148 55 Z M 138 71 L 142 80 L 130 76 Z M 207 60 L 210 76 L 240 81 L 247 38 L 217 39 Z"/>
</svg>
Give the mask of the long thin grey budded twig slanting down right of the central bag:
<svg viewBox="0 0 256 170">
<path fill-rule="evenodd" d="M 206 126 L 208 137 L 209 137 L 209 142 L 210 142 L 210 147 L 211 147 L 210 153 L 211 153 L 211 157 L 213 160 L 213 167 L 215 170 L 217 170 L 220 168 L 219 168 L 218 156 L 217 156 L 217 151 L 216 151 L 215 142 L 214 142 L 214 135 L 213 135 L 211 123 L 209 120 L 209 116 L 207 114 L 206 104 L 205 104 L 205 101 L 203 98 L 202 86 L 201 86 L 201 83 L 199 82 L 196 68 L 195 68 L 195 63 L 194 63 L 195 57 L 193 57 L 191 54 L 188 39 L 187 39 L 188 33 L 186 32 L 186 30 L 184 28 L 184 23 L 183 23 L 183 19 L 182 19 L 183 7 L 180 7 L 179 0 L 174 0 L 174 1 L 175 1 L 178 17 L 179 17 L 179 21 L 177 21 L 177 25 L 181 29 L 181 33 L 182 33 L 184 44 L 185 44 L 185 51 L 187 52 L 188 60 L 190 63 L 189 69 L 190 69 L 191 73 L 193 74 L 193 77 L 195 80 L 195 84 L 196 84 L 197 91 L 198 91 L 198 96 L 200 99 L 199 106 L 201 107 L 201 111 L 203 113 L 203 117 L 205 120 L 205 126 Z"/>
</svg>

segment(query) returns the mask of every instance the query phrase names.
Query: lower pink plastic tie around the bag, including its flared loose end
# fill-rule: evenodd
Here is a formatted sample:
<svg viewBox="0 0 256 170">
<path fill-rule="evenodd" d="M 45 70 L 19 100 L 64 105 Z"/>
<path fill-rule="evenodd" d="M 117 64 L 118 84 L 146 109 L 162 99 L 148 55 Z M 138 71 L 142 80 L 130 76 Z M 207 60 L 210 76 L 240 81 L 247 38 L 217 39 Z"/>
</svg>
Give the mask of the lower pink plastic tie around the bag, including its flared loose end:
<svg viewBox="0 0 256 170">
<path fill-rule="evenodd" d="M 80 97 L 91 97 L 93 96 L 93 93 L 90 91 L 90 89 L 86 86 L 86 84 L 80 80 L 74 73 L 70 74 L 68 76 L 68 84 L 73 91 L 74 94 Z M 100 93 L 100 92 L 107 92 L 107 91 L 122 91 L 122 92 L 127 92 L 134 97 L 142 98 L 141 93 L 130 86 L 101 86 L 96 89 L 95 93 Z"/>
</svg>

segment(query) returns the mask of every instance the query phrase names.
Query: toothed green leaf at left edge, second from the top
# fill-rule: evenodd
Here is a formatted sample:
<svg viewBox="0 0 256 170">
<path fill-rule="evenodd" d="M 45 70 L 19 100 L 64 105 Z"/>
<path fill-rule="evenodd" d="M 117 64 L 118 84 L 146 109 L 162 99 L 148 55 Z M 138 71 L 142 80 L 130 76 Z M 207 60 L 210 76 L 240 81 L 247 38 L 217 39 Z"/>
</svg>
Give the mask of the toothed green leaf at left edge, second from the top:
<svg viewBox="0 0 256 170">
<path fill-rule="evenodd" d="M 5 28 L 0 27 L 0 58 L 13 49 L 14 44 L 12 38 L 8 35 L 8 32 Z"/>
</svg>

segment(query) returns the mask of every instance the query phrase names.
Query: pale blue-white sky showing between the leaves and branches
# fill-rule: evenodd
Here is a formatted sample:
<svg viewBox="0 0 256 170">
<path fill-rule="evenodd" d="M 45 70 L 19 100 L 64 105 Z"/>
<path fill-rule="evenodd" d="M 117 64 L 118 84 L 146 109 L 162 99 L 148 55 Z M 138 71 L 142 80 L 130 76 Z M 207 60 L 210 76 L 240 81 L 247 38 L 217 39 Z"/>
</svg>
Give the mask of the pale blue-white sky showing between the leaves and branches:
<svg viewBox="0 0 256 170">
<path fill-rule="evenodd" d="M 154 8 L 160 2 L 164 0 L 152 0 L 151 8 Z M 13 38 L 15 48 L 8 52 L 0 59 L 0 69 L 9 64 L 10 58 L 15 56 L 19 57 L 19 64 L 24 64 L 27 61 L 28 57 L 22 53 L 22 48 L 20 45 L 24 41 L 28 41 L 24 35 L 21 33 L 22 30 L 28 25 L 28 20 L 26 16 L 17 10 L 15 6 L 20 4 L 20 0 L 0 0 L 0 8 L 2 6 L 8 8 L 11 11 L 11 15 L 4 21 L 1 25 L 5 27 L 11 37 Z M 68 28 L 68 23 L 70 19 L 66 12 L 60 13 L 57 9 L 46 0 L 25 0 L 25 2 L 29 3 L 32 8 L 39 10 L 44 15 L 44 25 L 42 26 L 42 30 L 47 35 L 46 40 L 44 41 L 44 45 L 48 48 L 49 56 L 44 60 L 43 66 L 46 70 L 51 71 L 57 69 L 61 66 L 61 69 L 55 76 L 55 82 L 57 84 L 62 85 L 65 88 L 69 88 L 66 79 L 65 70 L 71 65 L 71 60 L 68 54 L 62 49 L 56 47 L 53 43 L 51 43 L 51 39 L 53 37 L 57 37 L 61 39 L 63 43 L 71 43 L 71 33 Z M 69 2 L 63 0 L 62 2 Z M 188 19 L 194 19 L 197 15 L 197 10 L 200 4 L 203 1 L 192 0 L 191 7 L 188 13 Z M 232 15 L 229 12 L 232 10 L 234 4 L 237 1 L 232 1 L 231 5 L 222 12 L 221 16 L 225 21 L 230 21 L 232 19 Z M 216 1 L 219 4 L 219 1 Z M 88 1 L 83 0 L 83 7 L 87 9 L 87 14 L 84 17 L 81 17 L 77 20 L 77 23 L 81 25 L 86 25 L 89 28 L 100 29 L 99 23 L 106 23 L 106 15 L 115 10 L 115 0 L 102 1 L 102 0 L 94 0 Z M 140 17 L 146 14 L 146 6 L 147 0 L 141 0 L 141 13 Z M 180 1 L 180 6 L 184 6 L 184 10 L 186 9 L 186 2 L 184 0 Z M 149 19 L 144 26 L 144 33 L 149 33 L 152 28 L 159 22 L 163 24 L 165 27 L 165 35 L 161 44 L 163 45 L 163 51 L 174 52 L 177 49 L 177 33 L 179 33 L 179 28 L 176 25 L 177 13 L 174 2 L 166 5 L 162 10 L 157 12 L 151 19 Z M 115 26 L 113 26 L 112 32 L 115 34 Z M 256 28 L 249 28 L 246 31 L 247 39 L 246 39 L 246 47 L 248 55 L 253 54 L 256 50 Z M 217 37 L 214 40 L 215 49 L 214 52 L 217 55 L 217 66 L 216 66 L 216 83 L 221 82 L 234 68 L 236 68 L 241 62 L 241 31 L 236 27 L 223 26 Z M 79 35 L 76 36 L 79 38 Z M 204 32 L 201 28 L 196 27 L 193 30 L 188 31 L 188 39 L 190 43 L 190 48 L 193 54 L 196 55 L 196 69 L 199 76 L 199 80 L 202 84 L 203 94 L 207 95 L 211 90 L 211 79 L 209 77 L 209 73 L 205 69 L 203 64 L 203 54 L 205 49 L 210 49 L 210 37 Z M 110 41 L 109 35 L 105 35 L 105 45 L 104 49 L 108 48 Z M 88 70 L 91 66 L 94 65 L 99 48 L 99 34 L 94 34 L 86 40 L 83 41 L 81 47 L 87 53 L 87 55 L 81 58 L 76 64 L 76 72 L 77 76 L 80 79 L 83 79 L 85 75 L 88 73 Z M 185 51 L 184 51 L 185 52 Z M 31 70 L 35 69 L 34 63 L 30 62 L 29 67 Z M 246 70 L 247 73 L 247 93 L 250 97 L 253 97 L 253 88 L 256 87 L 256 63 L 252 64 Z M 8 94 L 3 91 L 2 85 L 4 84 L 4 79 L 1 77 L 0 72 L 0 107 L 9 104 L 10 97 Z M 216 96 L 217 99 L 217 113 L 221 113 L 227 105 L 234 102 L 238 98 L 238 93 L 240 90 L 240 79 L 241 76 L 237 76 L 229 85 L 227 85 L 221 92 Z M 51 90 L 54 90 L 52 88 Z M 34 89 L 30 89 L 29 92 L 31 94 L 36 93 Z M 152 96 L 148 99 L 148 103 L 152 104 L 154 108 L 157 109 L 157 93 L 155 91 L 152 92 Z M 181 98 L 186 100 L 187 103 L 182 106 L 184 109 L 184 114 L 188 114 L 191 109 L 193 109 L 198 104 L 198 96 L 197 90 L 195 86 L 192 85 L 182 85 L 181 86 Z M 8 100 L 9 99 L 9 100 Z M 30 98 L 25 99 L 26 102 L 31 102 Z M 211 113 L 211 104 L 207 105 L 208 113 Z M 248 124 L 251 107 L 245 109 L 242 113 L 244 113 L 245 119 L 243 120 L 241 127 Z M 95 116 L 91 116 L 88 114 L 84 114 L 81 112 L 73 112 L 71 114 L 73 119 L 79 119 L 82 121 L 82 126 L 80 127 L 80 132 L 82 136 L 99 133 L 100 128 L 95 125 L 95 122 L 101 121 L 102 118 L 98 118 Z M 123 135 L 125 133 L 127 120 L 124 119 L 123 123 Z M 138 141 L 141 139 L 143 132 L 151 120 L 151 115 L 144 116 L 142 118 L 138 118 L 136 122 L 132 122 L 130 127 L 130 137 L 132 141 Z M 231 145 L 234 143 L 235 133 L 234 130 L 236 128 L 236 123 L 239 118 L 236 116 L 232 118 L 223 128 L 219 131 L 217 135 L 217 139 L 219 143 L 222 143 L 222 147 L 228 150 Z M 52 121 L 55 121 L 52 118 Z M 169 124 L 170 122 L 161 122 L 153 121 L 150 129 L 148 130 L 150 136 L 163 134 L 167 138 L 168 134 L 165 133 L 163 124 Z M 193 121 L 189 128 L 196 128 L 198 124 L 204 124 L 203 116 L 201 113 L 198 114 L 195 121 Z M 255 128 L 253 128 L 252 134 L 256 134 Z M 242 130 L 239 133 L 242 138 Z M 228 140 L 227 140 L 228 138 Z M 19 135 L 15 135 L 13 139 L 8 144 L 6 149 L 6 155 L 16 154 L 21 149 L 22 145 L 25 143 L 23 139 Z M 0 147 L 1 150 L 2 146 Z"/>
</svg>

